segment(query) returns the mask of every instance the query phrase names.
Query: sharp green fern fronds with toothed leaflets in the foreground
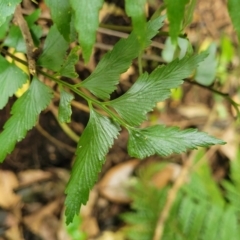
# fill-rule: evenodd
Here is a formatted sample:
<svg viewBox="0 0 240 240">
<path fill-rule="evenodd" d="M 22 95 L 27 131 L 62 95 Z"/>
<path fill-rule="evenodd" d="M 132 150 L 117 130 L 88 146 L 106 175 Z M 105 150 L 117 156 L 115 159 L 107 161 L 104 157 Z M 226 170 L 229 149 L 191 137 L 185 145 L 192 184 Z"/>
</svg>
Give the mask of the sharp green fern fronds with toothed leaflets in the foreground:
<svg viewBox="0 0 240 240">
<path fill-rule="evenodd" d="M 38 22 L 41 18 L 39 7 L 34 5 L 36 10 L 24 16 L 24 20 L 21 11 L 15 12 L 20 3 L 20 0 L 0 0 L 0 109 L 7 105 L 24 83 L 30 82 L 30 86 L 14 102 L 11 116 L 1 130 L 0 162 L 36 125 L 39 115 L 51 104 L 56 92 L 60 95 L 58 120 L 61 123 L 71 121 L 71 103 L 76 96 L 85 99 L 90 117 L 76 146 L 76 158 L 65 190 L 67 224 L 79 214 L 81 205 L 88 201 L 89 192 L 98 179 L 106 154 L 122 128 L 129 133 L 129 156 L 139 159 L 225 144 L 197 129 L 181 130 L 164 125 L 141 127 L 155 105 L 169 98 L 171 89 L 178 88 L 184 79 L 193 76 L 199 64 L 207 58 L 206 52 L 194 54 L 190 46 L 184 56 L 177 57 L 168 64 L 161 64 L 151 72 L 143 72 L 141 66 L 145 49 L 149 48 L 156 35 L 163 34 L 161 28 L 166 17 L 170 21 L 167 35 L 172 42 L 176 43 L 178 35 L 185 36 L 183 26 L 191 22 L 195 1 L 179 1 L 179 8 L 176 9 L 175 1 L 165 0 L 152 17 L 147 19 L 146 0 L 141 0 L 139 5 L 126 0 L 125 12 L 131 19 L 132 32 L 126 39 L 120 39 L 101 58 L 86 79 L 79 79 L 75 65 L 81 61 L 80 53 L 85 63 L 92 56 L 99 26 L 99 10 L 104 1 L 46 0 L 52 21 L 46 36 Z M 230 4 L 229 9 L 231 6 Z M 164 9 L 167 10 L 166 16 L 162 14 Z M 237 23 L 236 13 L 233 11 L 230 15 L 234 24 Z M 28 66 L 30 60 L 28 62 L 19 58 L 17 53 L 34 62 L 33 65 L 29 64 L 28 72 L 24 72 L 23 67 L 16 63 Z M 139 63 L 138 79 L 122 96 L 111 99 L 120 75 L 128 70 L 135 59 Z M 36 67 L 32 69 L 34 65 Z M 47 81 L 40 80 L 43 78 Z M 49 84 L 49 81 L 55 85 Z"/>
</svg>

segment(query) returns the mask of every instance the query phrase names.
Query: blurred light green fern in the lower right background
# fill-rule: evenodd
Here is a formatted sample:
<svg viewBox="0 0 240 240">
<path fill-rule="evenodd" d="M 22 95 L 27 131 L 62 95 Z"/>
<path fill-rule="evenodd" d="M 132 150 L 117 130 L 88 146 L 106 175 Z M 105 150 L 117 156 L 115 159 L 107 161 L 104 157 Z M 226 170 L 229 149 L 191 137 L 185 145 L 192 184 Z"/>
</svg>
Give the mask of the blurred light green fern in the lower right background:
<svg viewBox="0 0 240 240">
<path fill-rule="evenodd" d="M 219 184 L 213 179 L 205 151 L 199 150 L 186 183 L 180 188 L 164 224 L 163 240 L 240 239 L 239 153 L 231 161 L 228 180 Z M 160 164 L 161 166 L 162 164 Z M 164 163 L 164 166 L 166 163 Z M 163 166 L 163 167 L 164 167 Z M 149 183 L 159 164 L 139 173 L 131 189 L 132 212 L 122 215 L 130 240 L 153 239 L 157 220 L 166 204 L 171 184 L 157 189 Z"/>
</svg>

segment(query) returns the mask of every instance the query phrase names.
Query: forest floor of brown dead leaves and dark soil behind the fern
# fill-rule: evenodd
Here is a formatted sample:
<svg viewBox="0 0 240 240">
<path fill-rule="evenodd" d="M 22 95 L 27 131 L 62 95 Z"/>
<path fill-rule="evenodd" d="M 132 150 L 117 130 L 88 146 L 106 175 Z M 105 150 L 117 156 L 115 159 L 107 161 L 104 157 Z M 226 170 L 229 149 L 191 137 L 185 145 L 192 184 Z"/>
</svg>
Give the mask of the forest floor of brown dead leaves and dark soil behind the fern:
<svg viewBox="0 0 240 240">
<path fill-rule="evenodd" d="M 109 1 L 110 2 L 110 1 Z M 129 26 L 129 19 L 123 14 L 123 1 L 112 1 L 101 11 L 101 20 L 105 24 Z M 155 1 L 160 3 L 160 1 Z M 44 3 L 40 2 L 42 18 L 50 18 Z M 149 8 L 149 12 L 153 11 Z M 31 12 L 32 6 L 26 7 L 26 13 Z M 39 24 L 42 24 L 39 20 Z M 45 25 L 44 25 L 45 24 Z M 49 25 L 44 23 L 44 30 Z M 167 27 L 166 27 L 167 29 Z M 80 79 L 86 78 L 97 65 L 107 49 L 116 43 L 119 37 L 113 36 L 115 31 L 104 32 L 102 28 L 97 34 L 97 44 L 90 63 L 85 66 L 82 62 L 76 66 Z M 220 49 L 223 36 L 228 36 L 236 47 L 237 39 L 232 29 L 227 13 L 226 1 L 198 1 L 193 22 L 188 27 L 187 36 L 196 49 L 204 41 L 215 42 Z M 117 32 L 121 37 L 121 32 Z M 122 35 L 121 35 L 122 34 Z M 157 64 L 162 64 L 161 51 L 166 38 L 157 37 L 158 49 L 146 52 L 143 66 L 151 72 Z M 221 49 L 220 49 L 221 50 Z M 151 54 L 157 56 L 152 60 Z M 157 62 L 158 61 L 158 62 Z M 239 59 L 235 57 L 229 63 L 223 83 L 218 81 L 213 86 L 222 92 L 228 92 L 236 101 L 239 84 L 237 83 Z M 120 87 L 113 98 L 122 95 L 138 77 L 137 62 L 127 73 L 121 76 Z M 221 77 L 220 77 L 221 78 Z M 180 95 L 173 93 L 171 99 L 159 103 L 149 114 L 144 126 L 165 124 L 179 126 L 182 129 L 196 127 L 209 134 L 224 139 L 227 144 L 210 148 L 207 153 L 216 181 L 228 175 L 229 161 L 234 159 L 238 151 L 239 126 L 236 123 L 236 112 L 229 102 L 208 88 L 185 82 Z M 10 108 L 16 100 L 11 99 L 6 108 L 0 111 L 0 126 L 10 116 Z M 88 121 L 86 103 L 76 98 L 79 106 L 73 106 L 72 123 L 70 128 L 80 135 Z M 41 114 L 37 127 L 32 129 L 27 137 L 17 144 L 15 150 L 5 162 L 0 165 L 0 240 L 70 240 L 64 225 L 64 189 L 70 176 L 71 165 L 74 161 L 76 142 L 69 137 L 56 120 L 56 105 L 52 104 Z M 107 240 L 118 238 L 114 232 L 124 225 L 119 214 L 129 211 L 128 196 L 123 190 L 116 195 L 114 189 L 105 191 L 113 176 L 124 175 L 126 178 L 134 173 L 139 164 L 127 154 L 127 132 L 122 131 L 118 140 L 110 150 L 99 182 L 90 194 L 90 200 L 81 210 L 82 231 L 88 234 L 88 239 Z M 140 164 L 151 164 L 152 161 L 163 161 L 160 157 L 146 159 Z M 182 156 L 171 156 L 171 162 L 181 166 Z M 127 170 L 124 170 L 124 167 Z M 129 170 L 130 169 L 130 170 Z M 123 171 L 123 172 L 121 172 Z M 162 175 L 158 181 L 166 182 L 172 178 L 172 171 Z M 115 177 L 117 178 L 117 177 Z M 120 177 L 119 177 L 120 178 Z M 119 181 L 122 181 L 121 179 Z"/>
</svg>

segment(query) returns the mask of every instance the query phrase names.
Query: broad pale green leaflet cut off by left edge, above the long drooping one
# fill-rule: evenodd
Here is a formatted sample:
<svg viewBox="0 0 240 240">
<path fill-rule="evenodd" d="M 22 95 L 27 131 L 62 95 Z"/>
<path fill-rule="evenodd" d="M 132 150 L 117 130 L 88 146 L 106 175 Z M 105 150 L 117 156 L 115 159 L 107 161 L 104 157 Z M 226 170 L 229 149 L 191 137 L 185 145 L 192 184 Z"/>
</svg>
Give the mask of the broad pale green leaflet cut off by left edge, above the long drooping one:
<svg viewBox="0 0 240 240">
<path fill-rule="evenodd" d="M 26 73 L 0 56 L 0 109 L 28 79 Z"/>
</svg>

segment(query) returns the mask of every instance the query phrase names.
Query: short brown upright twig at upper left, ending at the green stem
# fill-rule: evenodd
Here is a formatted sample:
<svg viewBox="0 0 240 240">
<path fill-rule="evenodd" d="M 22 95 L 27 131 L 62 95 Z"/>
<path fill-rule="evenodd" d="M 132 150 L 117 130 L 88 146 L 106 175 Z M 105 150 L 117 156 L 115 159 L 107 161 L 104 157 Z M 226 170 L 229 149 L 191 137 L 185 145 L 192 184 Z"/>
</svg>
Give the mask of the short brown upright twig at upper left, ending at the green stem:
<svg viewBox="0 0 240 240">
<path fill-rule="evenodd" d="M 16 7 L 14 18 L 22 32 L 23 38 L 26 43 L 29 72 L 31 75 L 35 75 L 36 74 L 35 58 L 36 58 L 37 48 L 34 46 L 30 30 L 28 28 L 27 22 L 23 18 L 22 8 L 20 5 Z"/>
</svg>

